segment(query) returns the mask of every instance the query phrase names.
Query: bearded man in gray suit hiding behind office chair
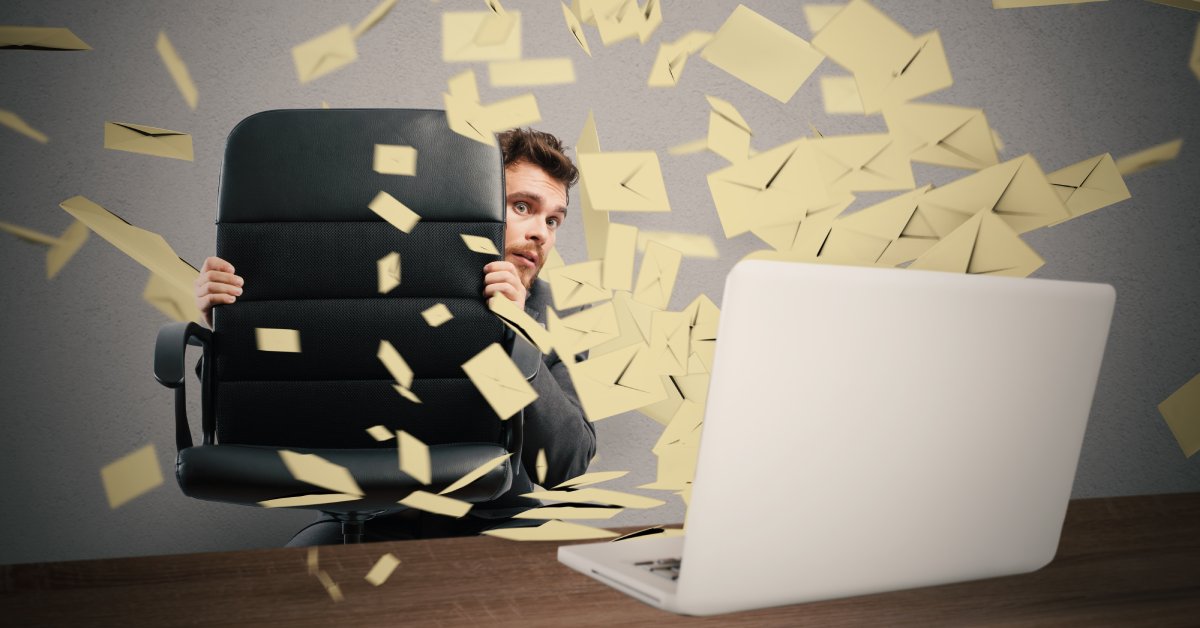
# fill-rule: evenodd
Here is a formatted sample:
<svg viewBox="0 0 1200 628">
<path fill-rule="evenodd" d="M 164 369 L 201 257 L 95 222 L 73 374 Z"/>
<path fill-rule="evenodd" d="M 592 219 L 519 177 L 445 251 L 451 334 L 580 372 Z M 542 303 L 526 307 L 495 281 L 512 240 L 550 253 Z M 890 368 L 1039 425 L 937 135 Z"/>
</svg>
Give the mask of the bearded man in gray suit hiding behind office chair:
<svg viewBox="0 0 1200 628">
<path fill-rule="evenodd" d="M 530 128 L 514 128 L 499 136 L 504 155 L 505 202 L 504 259 L 482 268 L 484 298 L 503 294 L 539 322 L 550 304 L 550 287 L 538 279 L 554 249 L 558 229 L 566 219 L 568 190 L 578 171 L 554 136 Z M 196 304 L 211 325 L 216 305 L 238 300 L 244 281 L 234 267 L 218 257 L 204 261 L 196 279 Z M 478 534 L 492 527 L 514 525 L 510 518 L 530 507 L 538 451 L 546 451 L 546 485 L 553 486 L 587 471 L 595 453 L 595 430 L 583 415 L 575 388 L 558 355 L 544 358 L 530 384 L 538 400 L 524 409 L 523 472 L 512 489 L 492 502 L 475 504 L 462 519 L 420 510 L 379 516 L 366 525 L 366 540 L 394 540 Z M 536 524 L 536 521 L 530 521 Z M 322 518 L 301 530 L 289 546 L 341 543 L 341 525 Z"/>
</svg>

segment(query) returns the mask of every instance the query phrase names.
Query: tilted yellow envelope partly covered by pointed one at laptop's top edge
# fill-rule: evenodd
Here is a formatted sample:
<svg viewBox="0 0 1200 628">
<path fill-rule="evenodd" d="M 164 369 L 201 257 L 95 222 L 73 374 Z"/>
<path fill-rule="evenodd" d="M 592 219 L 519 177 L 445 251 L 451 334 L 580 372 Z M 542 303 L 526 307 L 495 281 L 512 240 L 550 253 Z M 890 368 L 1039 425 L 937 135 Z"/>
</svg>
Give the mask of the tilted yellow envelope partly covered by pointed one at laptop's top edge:
<svg viewBox="0 0 1200 628">
<path fill-rule="evenodd" d="M 940 238 L 979 211 L 995 213 L 1016 233 L 1070 217 L 1032 155 L 1021 155 L 935 187 L 922 197 L 918 208 Z"/>
</svg>

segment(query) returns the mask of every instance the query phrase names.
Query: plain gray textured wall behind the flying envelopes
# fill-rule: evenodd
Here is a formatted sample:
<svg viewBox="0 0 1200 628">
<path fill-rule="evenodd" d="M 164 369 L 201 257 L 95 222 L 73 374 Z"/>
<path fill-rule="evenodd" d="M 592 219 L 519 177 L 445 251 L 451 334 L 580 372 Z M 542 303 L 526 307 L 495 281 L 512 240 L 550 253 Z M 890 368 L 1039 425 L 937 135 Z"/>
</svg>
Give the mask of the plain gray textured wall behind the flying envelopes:
<svg viewBox="0 0 1200 628">
<path fill-rule="evenodd" d="M 361 59 L 308 85 L 296 82 L 290 48 L 342 23 L 374 0 L 319 1 L 7 1 L 0 24 L 68 26 L 86 53 L 0 52 L 0 108 L 50 136 L 34 143 L 0 128 L 0 220 L 59 233 L 58 203 L 84 195 L 163 234 L 196 265 L 212 251 L 221 150 L 244 116 L 272 108 L 440 107 L 445 80 L 466 66 L 440 60 L 443 10 L 478 11 L 474 0 L 404 0 L 359 41 Z M 808 38 L 799 2 L 745 0 Z M 588 59 L 568 35 L 558 2 L 508 0 L 523 11 L 524 54 L 569 55 L 580 80 L 536 89 L 544 130 L 578 137 L 595 112 L 602 146 L 656 149 L 673 213 L 617 220 L 647 229 L 698 231 L 718 240 L 718 261 L 686 259 L 674 309 L 696 294 L 721 300 L 725 274 L 760 249 L 750 235 L 721 237 L 704 174 L 724 165 L 709 154 L 670 156 L 666 148 L 704 134 L 703 95 L 737 106 L 770 148 L 809 133 L 876 132 L 880 118 L 828 116 L 810 79 L 787 104 L 692 59 L 676 89 L 644 86 L 658 42 L 715 30 L 733 1 L 664 1 L 666 23 L 644 47 L 601 46 L 588 28 Z M 986 0 L 877 5 L 910 31 L 938 29 L 954 86 L 926 100 L 985 108 L 1003 137 L 1002 157 L 1033 152 L 1048 172 L 1110 151 L 1116 156 L 1184 138 L 1178 160 L 1128 178 L 1133 199 L 1026 240 L 1046 264 L 1034 276 L 1099 281 L 1117 291 L 1116 317 L 1075 483 L 1076 497 L 1200 490 L 1200 461 L 1187 460 L 1156 405 L 1200 372 L 1200 82 L 1187 58 L 1198 16 L 1146 2 L 994 11 Z M 168 32 L 199 86 L 184 103 L 155 52 Z M 522 92 L 491 89 L 474 64 L 484 101 Z M 832 62 L 817 74 L 842 73 Z M 106 120 L 190 132 L 194 163 L 102 149 Z M 961 171 L 916 168 L 941 184 Z M 886 195 L 863 195 L 864 207 Z M 584 259 L 578 222 L 559 247 Z M 197 502 L 173 480 L 110 510 L 98 469 L 155 443 L 172 469 L 172 395 L 156 384 L 150 358 L 167 322 L 142 301 L 145 271 L 98 238 L 54 281 L 42 250 L 0 238 L 0 563 L 266 548 L 284 543 L 311 515 Z M 653 480 L 649 448 L 659 426 L 638 415 L 596 425 L 596 469 L 630 469 L 617 486 Z M 678 521 L 676 497 L 614 524 Z"/>
</svg>

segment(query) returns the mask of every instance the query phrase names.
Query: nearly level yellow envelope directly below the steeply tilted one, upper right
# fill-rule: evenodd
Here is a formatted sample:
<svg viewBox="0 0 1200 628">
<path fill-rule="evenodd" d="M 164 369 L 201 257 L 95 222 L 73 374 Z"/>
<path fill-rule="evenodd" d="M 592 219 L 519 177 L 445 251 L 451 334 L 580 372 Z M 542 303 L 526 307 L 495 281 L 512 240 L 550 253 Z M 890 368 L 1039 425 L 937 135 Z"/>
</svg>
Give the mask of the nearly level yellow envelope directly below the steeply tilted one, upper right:
<svg viewBox="0 0 1200 628">
<path fill-rule="evenodd" d="M 971 171 L 1000 163 L 983 109 L 911 102 L 884 108 L 883 119 L 912 161 Z"/>
</svg>

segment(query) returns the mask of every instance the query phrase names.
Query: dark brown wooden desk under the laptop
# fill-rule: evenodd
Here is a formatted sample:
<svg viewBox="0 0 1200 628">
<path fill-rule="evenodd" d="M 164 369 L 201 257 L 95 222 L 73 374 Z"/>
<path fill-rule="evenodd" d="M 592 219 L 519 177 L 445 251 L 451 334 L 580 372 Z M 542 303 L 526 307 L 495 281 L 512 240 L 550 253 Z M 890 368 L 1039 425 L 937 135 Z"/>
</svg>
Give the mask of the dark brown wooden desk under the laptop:
<svg viewBox="0 0 1200 628">
<path fill-rule="evenodd" d="M 1200 492 L 1072 502 L 1058 555 L 1026 575 L 718 617 L 647 606 L 556 560 L 557 543 L 493 538 L 0 567 L 7 626 L 1200 626 Z M 402 564 L 362 580 L 384 552 Z"/>
</svg>

